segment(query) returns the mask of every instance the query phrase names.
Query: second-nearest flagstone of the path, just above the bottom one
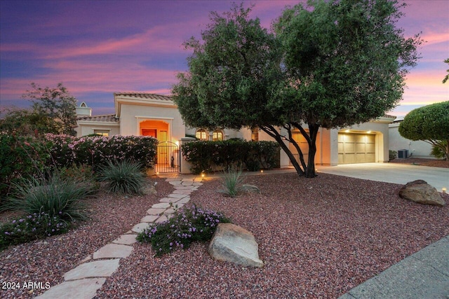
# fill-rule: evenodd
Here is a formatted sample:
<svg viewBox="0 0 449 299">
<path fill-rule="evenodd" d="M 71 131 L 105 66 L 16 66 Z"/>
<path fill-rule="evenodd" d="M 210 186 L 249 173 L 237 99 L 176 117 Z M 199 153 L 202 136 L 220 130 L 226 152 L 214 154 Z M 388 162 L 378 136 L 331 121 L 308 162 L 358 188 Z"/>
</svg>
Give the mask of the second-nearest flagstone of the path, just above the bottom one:
<svg viewBox="0 0 449 299">
<path fill-rule="evenodd" d="M 92 277 L 109 277 L 119 268 L 120 258 L 113 260 L 96 260 L 91 263 L 83 263 L 64 274 L 64 280 L 76 280 Z"/>
</svg>

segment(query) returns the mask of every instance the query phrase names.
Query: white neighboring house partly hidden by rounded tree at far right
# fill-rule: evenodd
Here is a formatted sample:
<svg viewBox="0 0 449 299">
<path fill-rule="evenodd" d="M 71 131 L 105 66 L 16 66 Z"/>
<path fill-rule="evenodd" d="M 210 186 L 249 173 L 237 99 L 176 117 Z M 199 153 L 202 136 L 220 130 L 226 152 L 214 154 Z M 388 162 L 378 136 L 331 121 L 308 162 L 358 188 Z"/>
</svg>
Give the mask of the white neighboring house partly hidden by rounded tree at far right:
<svg viewBox="0 0 449 299">
<path fill-rule="evenodd" d="M 426 158 L 435 159 L 433 155 L 430 155 L 432 151 L 431 144 L 427 142 L 418 140 L 413 141 L 406 139 L 399 134 L 399 125 L 401 125 L 402 120 L 395 120 L 389 125 L 389 149 L 391 151 L 403 151 L 407 150 L 407 157 L 401 158 Z M 405 156 L 405 155 L 404 155 Z"/>
</svg>

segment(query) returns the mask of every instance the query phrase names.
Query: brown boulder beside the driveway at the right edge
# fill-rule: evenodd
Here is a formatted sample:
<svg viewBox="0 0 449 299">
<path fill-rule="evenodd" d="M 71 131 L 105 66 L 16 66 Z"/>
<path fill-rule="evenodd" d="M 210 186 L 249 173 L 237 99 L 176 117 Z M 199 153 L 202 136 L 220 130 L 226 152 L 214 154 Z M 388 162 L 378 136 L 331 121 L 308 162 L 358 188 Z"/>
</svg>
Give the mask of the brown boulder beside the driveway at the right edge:
<svg viewBox="0 0 449 299">
<path fill-rule="evenodd" d="M 406 183 L 406 185 L 399 190 L 399 196 L 420 204 L 431 204 L 438 207 L 443 207 L 445 205 L 443 198 L 441 198 L 441 195 L 436 188 L 422 180 Z"/>
</svg>

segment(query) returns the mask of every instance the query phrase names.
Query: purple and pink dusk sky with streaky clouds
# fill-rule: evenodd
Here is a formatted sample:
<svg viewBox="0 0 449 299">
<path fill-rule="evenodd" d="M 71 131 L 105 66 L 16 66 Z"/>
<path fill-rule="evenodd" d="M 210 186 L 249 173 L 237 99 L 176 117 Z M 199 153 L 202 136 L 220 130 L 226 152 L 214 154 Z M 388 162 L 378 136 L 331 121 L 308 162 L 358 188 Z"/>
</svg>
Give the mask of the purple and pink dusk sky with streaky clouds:
<svg viewBox="0 0 449 299">
<path fill-rule="evenodd" d="M 210 11 L 233 1 L 0 0 L 0 108 L 25 108 L 29 83 L 62 82 L 93 115 L 114 113 L 114 92 L 170 95 L 175 75 L 187 71 L 182 43 L 199 37 Z M 235 1 L 239 3 L 239 1 Z M 245 1 L 269 28 L 286 6 L 299 1 Z M 407 77 L 404 116 L 420 106 L 449 100 L 449 1 L 406 1 L 398 22 L 405 36 L 422 32 L 422 58 Z"/>
</svg>

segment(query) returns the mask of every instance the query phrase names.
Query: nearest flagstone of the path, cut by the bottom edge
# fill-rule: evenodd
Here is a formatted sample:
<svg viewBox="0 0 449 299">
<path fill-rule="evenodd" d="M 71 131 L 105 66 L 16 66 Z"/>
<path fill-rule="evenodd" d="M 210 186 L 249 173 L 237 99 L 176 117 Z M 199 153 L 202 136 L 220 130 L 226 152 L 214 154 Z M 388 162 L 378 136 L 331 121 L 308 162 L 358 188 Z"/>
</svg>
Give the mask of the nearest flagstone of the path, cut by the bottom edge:
<svg viewBox="0 0 449 299">
<path fill-rule="evenodd" d="M 74 281 L 65 281 L 48 289 L 39 299 L 91 299 L 95 297 L 97 290 L 105 284 L 106 278 L 86 278 Z"/>
</svg>

